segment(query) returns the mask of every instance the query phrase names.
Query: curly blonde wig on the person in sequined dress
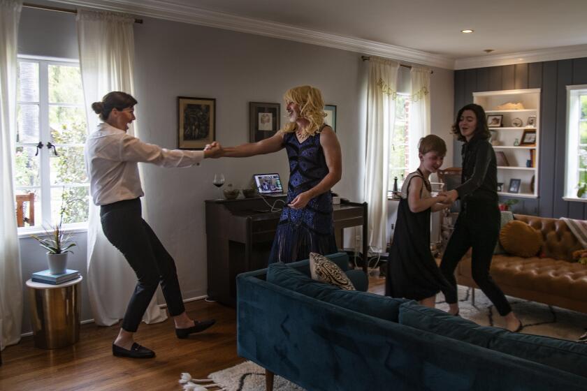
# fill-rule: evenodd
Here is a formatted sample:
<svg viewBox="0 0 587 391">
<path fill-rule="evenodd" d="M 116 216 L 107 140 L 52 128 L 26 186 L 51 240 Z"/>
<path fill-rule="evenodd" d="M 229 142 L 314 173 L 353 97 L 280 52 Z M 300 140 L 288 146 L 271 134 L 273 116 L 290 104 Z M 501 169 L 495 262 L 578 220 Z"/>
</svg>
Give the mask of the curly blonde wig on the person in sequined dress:
<svg viewBox="0 0 587 391">
<path fill-rule="evenodd" d="M 324 100 L 319 89 L 312 86 L 299 86 L 289 89 L 283 96 L 285 104 L 296 103 L 300 108 L 300 116 L 310 121 L 305 133 L 315 135 L 324 125 Z M 288 122 L 282 128 L 284 133 L 291 133 L 298 129 L 298 124 Z"/>
</svg>

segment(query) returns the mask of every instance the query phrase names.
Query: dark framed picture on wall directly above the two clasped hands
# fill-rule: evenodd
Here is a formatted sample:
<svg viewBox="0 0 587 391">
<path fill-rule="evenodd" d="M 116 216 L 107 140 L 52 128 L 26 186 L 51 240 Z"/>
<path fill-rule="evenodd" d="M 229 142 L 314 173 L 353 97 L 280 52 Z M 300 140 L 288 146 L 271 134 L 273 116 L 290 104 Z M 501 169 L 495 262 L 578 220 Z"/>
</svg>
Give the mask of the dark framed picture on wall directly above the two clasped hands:
<svg viewBox="0 0 587 391">
<path fill-rule="evenodd" d="M 177 148 L 204 149 L 216 140 L 216 99 L 177 96 Z"/>
</svg>

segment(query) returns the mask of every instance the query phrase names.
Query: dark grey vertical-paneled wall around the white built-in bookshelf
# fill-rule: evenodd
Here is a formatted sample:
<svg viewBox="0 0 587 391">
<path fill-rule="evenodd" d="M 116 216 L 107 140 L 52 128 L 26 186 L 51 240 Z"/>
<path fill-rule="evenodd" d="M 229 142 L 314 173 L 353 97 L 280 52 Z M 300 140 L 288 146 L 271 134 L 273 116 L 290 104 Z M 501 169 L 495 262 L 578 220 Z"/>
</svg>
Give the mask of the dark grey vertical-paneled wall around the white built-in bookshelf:
<svg viewBox="0 0 587 391">
<path fill-rule="evenodd" d="M 587 58 L 455 71 L 455 115 L 473 102 L 473 92 L 541 89 L 538 198 L 519 198 L 514 213 L 587 219 L 586 203 L 563 200 L 569 84 L 587 84 Z M 454 147 L 454 165 L 460 166 L 461 143 Z"/>
</svg>

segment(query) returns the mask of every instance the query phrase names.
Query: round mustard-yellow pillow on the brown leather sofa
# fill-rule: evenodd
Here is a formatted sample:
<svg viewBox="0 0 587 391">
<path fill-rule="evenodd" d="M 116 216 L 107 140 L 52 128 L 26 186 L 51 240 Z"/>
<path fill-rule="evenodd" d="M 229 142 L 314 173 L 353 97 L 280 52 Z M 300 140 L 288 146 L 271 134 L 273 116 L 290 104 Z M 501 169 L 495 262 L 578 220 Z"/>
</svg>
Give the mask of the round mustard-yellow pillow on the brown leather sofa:
<svg viewBox="0 0 587 391">
<path fill-rule="evenodd" d="M 542 233 L 523 221 L 514 220 L 500 230 L 500 243 L 513 256 L 535 256 L 542 247 Z"/>
</svg>

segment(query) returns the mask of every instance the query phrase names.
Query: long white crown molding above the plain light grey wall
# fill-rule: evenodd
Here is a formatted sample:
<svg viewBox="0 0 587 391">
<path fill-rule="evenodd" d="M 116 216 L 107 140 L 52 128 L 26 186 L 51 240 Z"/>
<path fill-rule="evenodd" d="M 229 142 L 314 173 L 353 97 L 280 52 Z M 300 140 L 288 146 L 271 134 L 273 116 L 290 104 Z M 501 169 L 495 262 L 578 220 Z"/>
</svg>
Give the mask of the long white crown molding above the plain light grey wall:
<svg viewBox="0 0 587 391">
<path fill-rule="evenodd" d="M 242 17 L 217 11 L 203 10 L 192 6 L 167 3 L 162 0 L 144 0 L 140 1 L 140 3 L 132 0 L 52 0 L 52 2 L 173 20 L 174 22 L 198 24 L 205 27 L 215 27 L 217 29 L 239 31 L 272 38 L 294 40 L 301 43 L 310 43 L 312 45 L 386 57 L 397 61 L 407 61 L 411 64 L 446 69 L 454 68 L 454 59 L 439 54 L 388 45 L 372 40 L 328 34 L 322 31 L 303 29 L 289 24 L 269 22 L 252 17 Z"/>
</svg>

